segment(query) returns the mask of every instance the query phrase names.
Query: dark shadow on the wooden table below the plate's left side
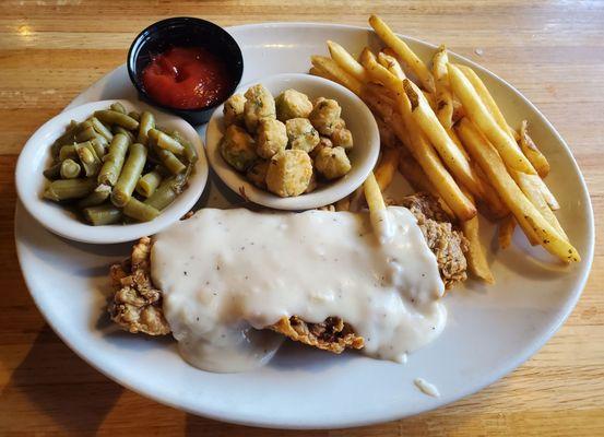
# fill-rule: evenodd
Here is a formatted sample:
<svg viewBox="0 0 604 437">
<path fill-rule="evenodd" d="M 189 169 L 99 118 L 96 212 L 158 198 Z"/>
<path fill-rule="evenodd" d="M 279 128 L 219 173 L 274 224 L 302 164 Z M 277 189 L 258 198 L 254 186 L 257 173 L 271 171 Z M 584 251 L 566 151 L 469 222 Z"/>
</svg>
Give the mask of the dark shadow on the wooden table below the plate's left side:
<svg viewBox="0 0 604 437">
<path fill-rule="evenodd" d="M 66 433 L 82 435 L 98 429 L 123 389 L 71 352 L 45 326 L 1 398 L 8 401 L 15 391 Z"/>
</svg>

